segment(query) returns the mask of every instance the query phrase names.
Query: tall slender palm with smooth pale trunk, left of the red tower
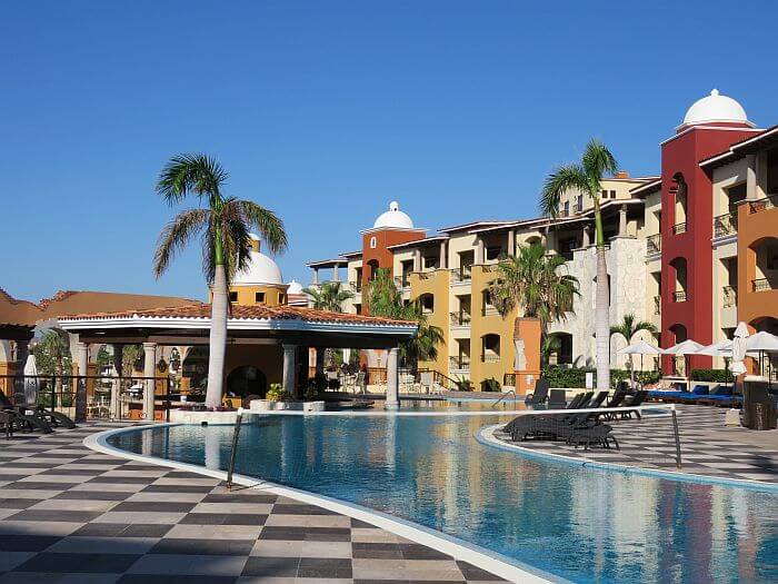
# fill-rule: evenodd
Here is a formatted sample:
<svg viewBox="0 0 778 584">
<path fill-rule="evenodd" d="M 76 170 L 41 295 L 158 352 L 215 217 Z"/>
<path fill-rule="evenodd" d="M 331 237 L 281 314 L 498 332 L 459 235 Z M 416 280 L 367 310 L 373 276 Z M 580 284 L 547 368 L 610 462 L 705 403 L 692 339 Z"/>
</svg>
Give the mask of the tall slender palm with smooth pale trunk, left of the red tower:
<svg viewBox="0 0 778 584">
<path fill-rule="evenodd" d="M 610 389 L 610 326 L 608 323 L 608 269 L 605 259 L 605 232 L 600 214 L 600 182 L 606 172 L 616 172 L 618 165 L 610 150 L 599 140 L 589 140 L 580 162 L 557 167 L 543 184 L 540 211 L 555 218 L 561 196 L 577 190 L 591 197 L 595 206 L 597 244 L 597 284 L 595 290 L 595 337 L 597 342 L 597 389 Z"/>
</svg>

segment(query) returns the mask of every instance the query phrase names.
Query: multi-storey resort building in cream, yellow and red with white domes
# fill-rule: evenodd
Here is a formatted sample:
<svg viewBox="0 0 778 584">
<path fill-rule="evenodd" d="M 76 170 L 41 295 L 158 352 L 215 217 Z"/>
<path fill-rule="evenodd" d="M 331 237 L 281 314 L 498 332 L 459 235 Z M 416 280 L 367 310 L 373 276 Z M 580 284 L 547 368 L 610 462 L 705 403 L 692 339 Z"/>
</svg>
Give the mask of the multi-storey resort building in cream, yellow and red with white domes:
<svg viewBox="0 0 778 584">
<path fill-rule="evenodd" d="M 530 198 L 535 198 L 532 195 Z M 675 133 L 661 143 L 657 176 L 620 171 L 599 194 L 607 240 L 610 323 L 631 314 L 654 323 L 662 347 L 686 338 L 710 344 L 730 337 L 739 320 L 757 330 L 778 327 L 778 129 L 760 130 L 734 99 L 714 90 L 695 102 Z M 311 261 L 313 285 L 322 270 L 355 294 L 346 310 L 365 311 L 361 291 L 377 268 L 391 270 L 408 300 L 419 299 L 445 344 L 426 367 L 483 388 L 491 379 L 513 385 L 515 321 L 518 311 L 498 314 L 489 298 L 500 258 L 517 246 L 541 242 L 567 259 L 580 297 L 549 333 L 560 349 L 551 363 L 592 366 L 595 360 L 595 236 L 592 201 L 568 192 L 557 218 L 479 220 L 439 228 L 415 227 L 392 202 L 372 228 L 361 231 L 358 251 Z M 341 270 L 345 275 L 341 275 Z M 611 364 L 625 367 L 611 339 Z M 368 355 L 380 367 L 380 355 Z M 691 367 L 722 366 L 711 357 Z M 644 367 L 652 368 L 652 359 Z M 684 373 L 682 359 L 666 357 L 666 374 Z"/>
</svg>

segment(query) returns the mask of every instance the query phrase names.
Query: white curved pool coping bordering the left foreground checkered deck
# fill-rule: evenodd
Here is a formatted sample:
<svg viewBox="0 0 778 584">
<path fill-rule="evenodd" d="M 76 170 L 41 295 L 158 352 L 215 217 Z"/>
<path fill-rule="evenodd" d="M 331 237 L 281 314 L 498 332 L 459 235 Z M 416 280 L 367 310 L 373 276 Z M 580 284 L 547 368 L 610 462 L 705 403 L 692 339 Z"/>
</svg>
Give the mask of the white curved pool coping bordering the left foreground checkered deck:
<svg viewBox="0 0 778 584">
<path fill-rule="evenodd" d="M 123 428 L 111 428 L 108 430 L 90 434 L 83 439 L 83 445 L 92 451 L 102 454 L 118 456 L 120 458 L 127 458 L 130 461 L 154 464 L 157 466 L 188 471 L 202 476 L 226 481 L 226 471 L 213 471 L 194 464 L 180 463 L 177 461 L 169 461 L 167 458 L 158 458 L 156 456 L 133 454 L 110 446 L 107 442 L 110 436 L 114 436 L 117 434 L 123 434 L 129 432 L 142 432 L 159 427 L 186 425 L 187 424 L 162 423 L 128 426 Z M 416 542 L 427 547 L 431 547 L 433 550 L 453 556 L 457 560 L 468 562 L 477 567 L 480 567 L 481 570 L 490 572 L 497 576 L 500 576 L 511 582 L 521 582 L 528 584 L 568 582 L 567 580 L 560 576 L 549 574 L 542 570 L 535 568 L 528 564 L 522 564 L 518 561 L 511 561 L 510 558 L 507 558 L 496 552 L 491 552 L 490 550 L 477 546 L 475 544 L 470 544 L 468 542 L 447 535 L 437 529 L 419 525 L 408 519 L 395 517 L 387 513 L 377 512 L 368 507 L 363 507 L 361 505 L 343 502 L 341 499 L 328 497 L 326 495 L 318 495 L 300 488 L 278 485 L 269 481 L 259 481 L 257 478 L 249 477 L 246 475 L 235 474 L 232 476 L 232 482 L 237 485 L 246 486 L 249 488 L 261 488 L 262 491 L 272 493 L 275 495 L 293 498 L 301 503 L 317 505 L 328 511 L 332 511 L 335 513 L 339 513 L 341 515 L 352 517 L 365 523 L 369 523 L 371 525 L 375 525 L 376 527 L 380 527 L 381 529 L 393 533 L 395 535 L 405 537 L 406 540 Z"/>
</svg>

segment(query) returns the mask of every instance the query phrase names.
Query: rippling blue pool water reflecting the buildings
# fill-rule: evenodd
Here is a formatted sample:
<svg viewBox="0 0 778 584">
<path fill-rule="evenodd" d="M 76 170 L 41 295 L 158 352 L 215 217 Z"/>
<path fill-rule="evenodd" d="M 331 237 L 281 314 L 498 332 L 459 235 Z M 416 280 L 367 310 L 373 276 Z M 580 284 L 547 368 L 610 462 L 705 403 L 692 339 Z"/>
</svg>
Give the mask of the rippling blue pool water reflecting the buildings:
<svg viewBox="0 0 778 584">
<path fill-rule="evenodd" d="M 777 582 L 778 495 L 526 458 L 478 443 L 508 416 L 261 416 L 236 472 L 409 519 L 573 582 Z M 116 434 L 226 469 L 232 426 Z"/>
</svg>

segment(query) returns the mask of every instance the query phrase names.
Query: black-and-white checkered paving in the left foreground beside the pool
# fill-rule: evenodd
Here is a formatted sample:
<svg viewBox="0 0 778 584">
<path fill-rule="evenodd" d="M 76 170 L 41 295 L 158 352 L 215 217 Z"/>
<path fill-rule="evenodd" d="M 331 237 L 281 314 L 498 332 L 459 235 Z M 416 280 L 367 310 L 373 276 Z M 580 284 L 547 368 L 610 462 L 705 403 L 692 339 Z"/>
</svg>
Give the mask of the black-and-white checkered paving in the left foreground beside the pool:
<svg viewBox="0 0 778 584">
<path fill-rule="evenodd" d="M 0 439 L 0 583 L 503 582 L 313 505 L 81 444 L 108 427 Z"/>
</svg>

